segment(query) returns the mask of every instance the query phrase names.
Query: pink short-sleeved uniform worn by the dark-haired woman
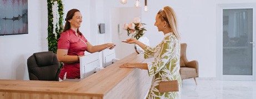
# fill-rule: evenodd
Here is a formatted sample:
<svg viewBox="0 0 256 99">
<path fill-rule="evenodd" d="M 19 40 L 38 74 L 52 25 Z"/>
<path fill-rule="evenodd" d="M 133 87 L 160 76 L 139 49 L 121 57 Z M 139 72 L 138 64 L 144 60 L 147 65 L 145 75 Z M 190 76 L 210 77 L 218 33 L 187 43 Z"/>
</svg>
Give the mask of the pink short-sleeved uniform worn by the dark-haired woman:
<svg viewBox="0 0 256 99">
<path fill-rule="evenodd" d="M 76 32 L 72 29 L 61 33 L 61 37 L 58 39 L 58 49 L 67 49 L 68 55 L 84 55 L 84 51 L 87 50 L 85 44 L 87 39 L 83 34 L 76 36 Z M 73 64 L 64 64 L 59 77 L 63 80 L 65 73 L 67 72 L 67 79 L 80 78 L 80 64 L 79 62 Z"/>
</svg>

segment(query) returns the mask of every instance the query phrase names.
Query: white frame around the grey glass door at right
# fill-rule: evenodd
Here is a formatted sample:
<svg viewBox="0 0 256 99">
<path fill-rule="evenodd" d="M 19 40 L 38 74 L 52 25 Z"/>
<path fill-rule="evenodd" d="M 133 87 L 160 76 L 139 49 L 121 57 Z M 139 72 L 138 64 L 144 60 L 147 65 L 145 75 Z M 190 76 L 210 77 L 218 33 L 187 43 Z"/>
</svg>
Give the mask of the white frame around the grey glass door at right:
<svg viewBox="0 0 256 99">
<path fill-rule="evenodd" d="M 250 75 L 223 75 L 223 9 L 253 9 L 253 72 Z M 217 6 L 217 78 L 219 80 L 255 81 L 255 13 L 256 3 L 251 4 L 218 4 Z"/>
</svg>

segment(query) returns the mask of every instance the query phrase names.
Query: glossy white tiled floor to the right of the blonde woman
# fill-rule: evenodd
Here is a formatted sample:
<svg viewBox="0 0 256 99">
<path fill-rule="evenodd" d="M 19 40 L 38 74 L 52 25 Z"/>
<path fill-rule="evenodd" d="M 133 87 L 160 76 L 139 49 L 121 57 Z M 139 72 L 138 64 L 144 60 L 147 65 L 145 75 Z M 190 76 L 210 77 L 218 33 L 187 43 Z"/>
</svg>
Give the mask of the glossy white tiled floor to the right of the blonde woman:
<svg viewBox="0 0 256 99">
<path fill-rule="evenodd" d="M 182 99 L 256 99 L 256 81 L 183 80 Z"/>
</svg>

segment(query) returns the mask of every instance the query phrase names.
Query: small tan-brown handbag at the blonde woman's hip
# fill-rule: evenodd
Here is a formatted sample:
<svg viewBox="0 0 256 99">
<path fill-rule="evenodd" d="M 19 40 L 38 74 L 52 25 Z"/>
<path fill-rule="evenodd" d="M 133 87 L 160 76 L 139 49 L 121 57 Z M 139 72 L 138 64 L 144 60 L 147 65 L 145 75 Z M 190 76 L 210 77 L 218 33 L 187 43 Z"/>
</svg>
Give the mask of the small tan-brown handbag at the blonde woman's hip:
<svg viewBox="0 0 256 99">
<path fill-rule="evenodd" d="M 174 91 L 179 91 L 179 84 L 177 80 L 159 82 L 159 92 L 174 92 Z"/>
</svg>

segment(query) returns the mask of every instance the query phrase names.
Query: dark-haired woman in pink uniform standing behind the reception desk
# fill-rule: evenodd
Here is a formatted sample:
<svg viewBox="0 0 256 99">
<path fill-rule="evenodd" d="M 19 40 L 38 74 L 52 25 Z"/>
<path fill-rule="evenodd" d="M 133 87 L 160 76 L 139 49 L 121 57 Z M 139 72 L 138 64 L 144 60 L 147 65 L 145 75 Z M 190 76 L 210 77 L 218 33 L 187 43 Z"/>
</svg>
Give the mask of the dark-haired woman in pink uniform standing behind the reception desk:
<svg viewBox="0 0 256 99">
<path fill-rule="evenodd" d="M 84 56 L 84 51 L 94 53 L 104 49 L 113 49 L 113 43 L 93 46 L 79 31 L 82 23 L 82 14 L 78 9 L 71 9 L 67 13 L 66 23 L 58 39 L 57 59 L 63 62 L 59 78 L 80 79 L 79 57 Z"/>
</svg>

